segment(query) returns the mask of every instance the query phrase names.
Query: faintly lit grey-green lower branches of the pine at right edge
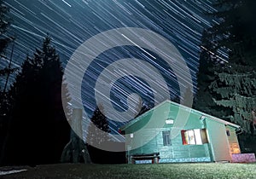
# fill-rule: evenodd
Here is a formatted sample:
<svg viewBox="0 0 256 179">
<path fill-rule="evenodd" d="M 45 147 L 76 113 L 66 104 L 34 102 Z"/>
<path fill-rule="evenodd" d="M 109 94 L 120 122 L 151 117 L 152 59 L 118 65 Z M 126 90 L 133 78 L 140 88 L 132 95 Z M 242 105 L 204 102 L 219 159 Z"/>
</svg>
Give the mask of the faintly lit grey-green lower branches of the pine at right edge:
<svg viewBox="0 0 256 179">
<path fill-rule="evenodd" d="M 251 133 L 252 112 L 256 107 L 256 72 L 250 66 L 232 64 L 217 73 L 210 88 L 216 93 L 214 101 L 218 106 L 230 108 L 230 121 L 241 125 Z"/>
</svg>

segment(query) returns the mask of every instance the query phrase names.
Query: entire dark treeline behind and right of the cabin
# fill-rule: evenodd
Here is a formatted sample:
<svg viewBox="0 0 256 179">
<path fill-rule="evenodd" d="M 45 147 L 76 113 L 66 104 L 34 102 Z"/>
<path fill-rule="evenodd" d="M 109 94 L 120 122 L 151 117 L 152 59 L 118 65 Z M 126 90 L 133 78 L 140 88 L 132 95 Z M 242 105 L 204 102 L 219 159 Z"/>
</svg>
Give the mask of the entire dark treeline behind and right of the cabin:
<svg viewBox="0 0 256 179">
<path fill-rule="evenodd" d="M 242 152 L 256 152 L 256 20 L 253 0 L 218 0 L 201 41 L 196 109 L 239 124 Z"/>
</svg>

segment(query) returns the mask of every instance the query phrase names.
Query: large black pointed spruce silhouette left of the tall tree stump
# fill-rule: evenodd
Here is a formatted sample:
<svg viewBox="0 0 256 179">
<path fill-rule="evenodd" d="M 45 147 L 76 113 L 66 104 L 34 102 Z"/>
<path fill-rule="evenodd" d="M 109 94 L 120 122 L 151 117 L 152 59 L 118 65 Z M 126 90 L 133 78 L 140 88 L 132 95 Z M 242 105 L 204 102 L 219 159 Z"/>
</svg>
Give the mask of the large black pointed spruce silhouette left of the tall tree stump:
<svg viewBox="0 0 256 179">
<path fill-rule="evenodd" d="M 63 70 L 49 37 L 21 68 L 10 89 L 13 99 L 3 164 L 57 163 L 70 128 L 61 102 Z"/>
</svg>

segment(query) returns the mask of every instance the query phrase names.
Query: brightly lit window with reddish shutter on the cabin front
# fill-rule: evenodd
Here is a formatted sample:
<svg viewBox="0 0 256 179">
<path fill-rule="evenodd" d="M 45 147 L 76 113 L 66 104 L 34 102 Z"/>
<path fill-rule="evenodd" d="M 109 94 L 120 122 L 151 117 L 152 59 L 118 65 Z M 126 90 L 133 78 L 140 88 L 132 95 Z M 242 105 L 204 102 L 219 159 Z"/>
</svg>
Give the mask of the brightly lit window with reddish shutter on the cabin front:
<svg viewBox="0 0 256 179">
<path fill-rule="evenodd" d="M 208 143 L 207 130 L 182 130 L 183 145 L 202 145 Z"/>
</svg>

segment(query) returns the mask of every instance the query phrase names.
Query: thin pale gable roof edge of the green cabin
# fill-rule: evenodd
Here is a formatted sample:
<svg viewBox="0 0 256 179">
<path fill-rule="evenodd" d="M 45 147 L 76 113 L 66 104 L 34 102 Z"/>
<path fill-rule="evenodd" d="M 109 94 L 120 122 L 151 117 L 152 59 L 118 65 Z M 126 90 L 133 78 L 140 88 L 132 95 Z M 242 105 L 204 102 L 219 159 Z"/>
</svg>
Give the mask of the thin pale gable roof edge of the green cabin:
<svg viewBox="0 0 256 179">
<path fill-rule="evenodd" d="M 237 124 L 230 123 L 230 122 L 225 121 L 225 120 L 223 120 L 223 119 L 220 119 L 220 118 L 211 116 L 211 115 L 209 115 L 209 114 L 207 114 L 207 113 L 202 113 L 202 112 L 200 112 L 200 111 L 198 111 L 198 110 L 195 110 L 195 109 L 193 109 L 193 108 L 190 108 L 190 107 L 185 107 L 185 106 L 183 106 L 183 105 L 181 105 L 181 104 L 178 104 L 178 103 L 176 103 L 176 102 L 173 102 L 173 101 L 170 101 L 170 100 L 166 100 L 166 101 L 161 102 L 159 105 L 153 107 L 152 109 L 148 110 L 147 112 L 143 113 L 142 115 L 138 116 L 137 118 L 132 119 L 132 120 L 131 120 L 130 122 L 128 122 L 127 124 L 121 126 L 121 127 L 119 128 L 119 130 L 124 131 L 125 129 L 129 128 L 131 125 L 136 124 L 136 123 L 137 123 L 138 121 L 140 121 L 140 120 L 143 120 L 143 117 L 144 117 L 144 116 L 147 116 L 148 113 L 151 113 L 153 110 L 157 109 L 158 107 L 163 106 L 163 105 L 166 104 L 166 103 L 170 103 L 171 105 L 174 105 L 174 106 L 177 106 L 177 107 L 182 107 L 184 110 L 189 110 L 191 113 L 200 113 L 201 116 L 207 117 L 208 119 L 211 119 L 211 120 L 216 121 L 216 122 L 218 122 L 218 123 L 230 125 L 231 127 L 234 127 L 234 128 L 236 128 L 236 129 L 239 129 L 239 128 L 240 128 L 240 126 L 237 125 Z"/>
</svg>

